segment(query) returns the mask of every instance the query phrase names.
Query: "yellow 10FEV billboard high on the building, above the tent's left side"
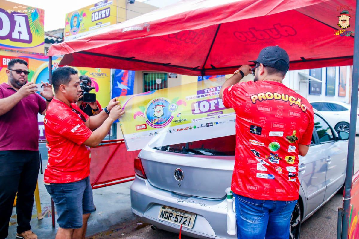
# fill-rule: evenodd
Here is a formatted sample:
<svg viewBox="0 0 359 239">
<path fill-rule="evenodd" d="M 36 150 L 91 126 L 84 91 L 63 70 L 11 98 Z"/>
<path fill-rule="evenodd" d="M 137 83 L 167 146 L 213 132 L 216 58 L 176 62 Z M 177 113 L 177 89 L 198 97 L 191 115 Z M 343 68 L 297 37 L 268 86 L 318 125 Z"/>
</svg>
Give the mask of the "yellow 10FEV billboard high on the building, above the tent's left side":
<svg viewBox="0 0 359 239">
<path fill-rule="evenodd" d="M 116 1 L 103 0 L 66 14 L 65 41 L 73 40 L 101 28 L 116 24 Z"/>
</svg>

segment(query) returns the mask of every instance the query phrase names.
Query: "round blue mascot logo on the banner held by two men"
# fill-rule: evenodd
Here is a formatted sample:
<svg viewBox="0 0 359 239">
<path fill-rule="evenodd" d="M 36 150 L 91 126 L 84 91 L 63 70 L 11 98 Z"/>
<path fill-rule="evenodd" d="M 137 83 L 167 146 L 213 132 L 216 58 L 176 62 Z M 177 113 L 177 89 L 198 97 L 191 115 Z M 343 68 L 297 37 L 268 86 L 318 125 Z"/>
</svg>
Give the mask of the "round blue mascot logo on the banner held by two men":
<svg viewBox="0 0 359 239">
<path fill-rule="evenodd" d="M 153 128 L 163 128 L 171 123 L 173 116 L 169 105 L 164 98 L 151 100 L 146 109 L 146 123 Z"/>
</svg>

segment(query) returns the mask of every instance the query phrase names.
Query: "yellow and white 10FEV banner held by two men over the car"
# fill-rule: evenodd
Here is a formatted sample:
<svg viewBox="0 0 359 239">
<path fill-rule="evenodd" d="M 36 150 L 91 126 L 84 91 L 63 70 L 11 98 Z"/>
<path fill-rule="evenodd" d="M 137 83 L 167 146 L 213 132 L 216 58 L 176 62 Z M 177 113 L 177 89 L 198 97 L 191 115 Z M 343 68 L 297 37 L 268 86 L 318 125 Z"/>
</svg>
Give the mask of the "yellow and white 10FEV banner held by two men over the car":
<svg viewBox="0 0 359 239">
<path fill-rule="evenodd" d="M 225 108 L 219 98 L 224 81 L 219 77 L 120 97 L 126 112 L 120 124 L 127 149 L 234 134 L 234 110 Z"/>
</svg>

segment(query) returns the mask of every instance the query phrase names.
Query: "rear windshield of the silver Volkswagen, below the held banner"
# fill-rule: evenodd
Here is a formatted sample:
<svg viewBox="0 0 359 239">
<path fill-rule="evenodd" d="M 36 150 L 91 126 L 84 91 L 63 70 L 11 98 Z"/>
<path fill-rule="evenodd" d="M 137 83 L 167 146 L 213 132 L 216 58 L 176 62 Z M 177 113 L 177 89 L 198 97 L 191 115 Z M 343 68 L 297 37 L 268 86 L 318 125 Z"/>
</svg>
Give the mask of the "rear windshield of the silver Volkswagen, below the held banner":
<svg viewBox="0 0 359 239">
<path fill-rule="evenodd" d="M 236 147 L 235 135 L 205 139 L 181 144 L 172 144 L 154 149 L 185 154 L 197 154 L 208 156 L 234 156 Z"/>
</svg>

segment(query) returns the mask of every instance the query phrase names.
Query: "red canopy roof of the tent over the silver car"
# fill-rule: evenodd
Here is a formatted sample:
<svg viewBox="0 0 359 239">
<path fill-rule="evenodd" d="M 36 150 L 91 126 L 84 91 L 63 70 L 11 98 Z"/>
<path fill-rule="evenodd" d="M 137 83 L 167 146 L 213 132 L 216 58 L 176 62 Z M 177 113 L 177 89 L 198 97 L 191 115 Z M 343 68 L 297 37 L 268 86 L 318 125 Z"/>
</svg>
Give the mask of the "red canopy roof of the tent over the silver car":
<svg viewBox="0 0 359 239">
<path fill-rule="evenodd" d="M 61 65 L 157 70 L 184 75 L 233 73 L 265 46 L 283 47 L 290 70 L 353 64 L 354 32 L 335 35 L 355 0 L 191 0 L 85 37 L 53 44 Z"/>
</svg>

